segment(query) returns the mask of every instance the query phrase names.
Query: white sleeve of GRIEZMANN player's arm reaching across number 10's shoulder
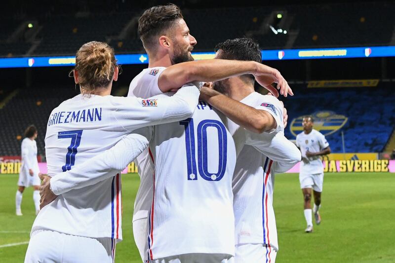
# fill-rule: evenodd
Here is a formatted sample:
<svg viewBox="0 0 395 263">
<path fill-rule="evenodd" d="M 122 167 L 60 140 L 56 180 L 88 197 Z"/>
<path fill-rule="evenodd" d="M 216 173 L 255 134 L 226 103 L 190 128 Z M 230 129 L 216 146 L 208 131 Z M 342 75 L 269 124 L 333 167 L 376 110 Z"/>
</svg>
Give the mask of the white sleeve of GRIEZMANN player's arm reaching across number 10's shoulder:
<svg viewBox="0 0 395 263">
<path fill-rule="evenodd" d="M 188 83 L 173 96 L 161 94 L 149 99 L 113 97 L 116 121 L 129 132 L 146 126 L 183 120 L 194 113 L 200 82 Z"/>
</svg>

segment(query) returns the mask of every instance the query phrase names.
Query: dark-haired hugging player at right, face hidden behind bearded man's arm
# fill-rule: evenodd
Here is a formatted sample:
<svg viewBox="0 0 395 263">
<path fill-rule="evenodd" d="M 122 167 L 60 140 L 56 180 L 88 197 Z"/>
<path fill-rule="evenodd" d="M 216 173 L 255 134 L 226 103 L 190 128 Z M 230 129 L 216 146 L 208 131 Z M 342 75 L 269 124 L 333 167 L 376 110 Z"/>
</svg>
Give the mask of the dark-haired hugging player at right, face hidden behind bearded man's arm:
<svg viewBox="0 0 395 263">
<path fill-rule="evenodd" d="M 249 38 L 229 39 L 216 46 L 217 59 L 261 61 L 259 45 Z M 254 92 L 254 77 L 241 75 L 217 81 L 214 89 L 254 107 L 271 120 L 263 133 L 252 133 L 228 119 L 226 125 L 236 144 L 233 177 L 235 214 L 235 262 L 275 262 L 278 251 L 273 209 L 275 172 L 285 172 L 301 159 L 297 147 L 284 133 L 283 106 L 274 96 Z M 208 103 L 229 115 L 233 105 L 224 105 L 224 95 Z M 284 111 L 286 114 L 286 111 Z M 284 120 L 284 122 L 283 122 Z"/>
</svg>

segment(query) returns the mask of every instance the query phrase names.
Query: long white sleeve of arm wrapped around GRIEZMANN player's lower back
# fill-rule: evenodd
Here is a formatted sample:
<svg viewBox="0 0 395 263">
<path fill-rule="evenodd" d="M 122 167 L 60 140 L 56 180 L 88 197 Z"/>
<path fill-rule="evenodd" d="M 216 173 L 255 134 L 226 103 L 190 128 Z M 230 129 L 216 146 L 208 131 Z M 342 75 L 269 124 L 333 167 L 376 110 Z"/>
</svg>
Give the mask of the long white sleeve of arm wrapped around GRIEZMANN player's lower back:
<svg viewBox="0 0 395 263">
<path fill-rule="evenodd" d="M 141 133 L 149 134 L 149 128 L 146 129 Z M 147 138 L 140 134 L 126 135 L 109 150 L 73 166 L 72 170 L 56 174 L 51 178 L 50 188 L 54 194 L 60 195 L 110 178 L 143 152 L 148 143 Z"/>
</svg>

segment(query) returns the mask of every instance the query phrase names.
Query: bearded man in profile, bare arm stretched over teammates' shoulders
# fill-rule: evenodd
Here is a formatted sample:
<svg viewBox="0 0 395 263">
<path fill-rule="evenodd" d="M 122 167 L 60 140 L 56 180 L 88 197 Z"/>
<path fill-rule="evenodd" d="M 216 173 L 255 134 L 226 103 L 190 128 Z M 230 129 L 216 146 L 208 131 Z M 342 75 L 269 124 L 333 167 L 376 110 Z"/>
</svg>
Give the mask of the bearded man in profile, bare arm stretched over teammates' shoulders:
<svg viewBox="0 0 395 263">
<path fill-rule="evenodd" d="M 250 66 L 240 61 L 210 60 L 177 64 L 193 60 L 190 52 L 197 42 L 189 34 L 181 11 L 175 5 L 155 6 L 147 9 L 139 19 L 139 33 L 149 55 L 149 68 L 143 70 L 132 80 L 129 96 L 153 96 L 177 88 L 185 81 L 215 81 L 232 75 L 252 72 Z M 258 64 L 258 66 L 256 77 L 259 78 L 259 74 L 263 75 L 264 72 L 267 75 L 271 72 L 271 75 L 277 76 L 273 80 L 281 79 L 282 81 L 283 77 L 278 71 L 262 64 Z M 271 84 L 274 81 L 268 82 Z M 273 88 L 270 84 L 266 86 Z M 283 86 L 283 92 L 288 92 L 287 85 Z M 211 111 L 211 108 L 206 103 L 200 102 L 198 110 Z M 158 131 L 155 129 L 155 134 L 157 133 Z M 177 159 L 177 157 L 173 158 Z M 147 220 L 148 212 L 152 210 L 154 162 L 148 150 L 137 157 L 135 162 L 138 165 L 141 183 L 134 207 L 133 233 L 140 255 L 147 260 Z M 194 175 L 198 178 L 196 173 Z"/>
</svg>

